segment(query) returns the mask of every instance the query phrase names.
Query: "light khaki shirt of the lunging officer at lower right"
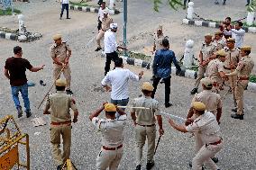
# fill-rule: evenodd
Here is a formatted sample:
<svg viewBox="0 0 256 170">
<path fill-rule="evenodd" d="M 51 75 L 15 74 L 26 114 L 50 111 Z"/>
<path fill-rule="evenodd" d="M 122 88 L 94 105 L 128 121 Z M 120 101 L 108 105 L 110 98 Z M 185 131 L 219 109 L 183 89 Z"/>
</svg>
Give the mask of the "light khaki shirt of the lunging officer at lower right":
<svg viewBox="0 0 256 170">
<path fill-rule="evenodd" d="M 186 127 L 188 132 L 198 132 L 199 138 L 204 144 L 214 143 L 220 140 L 220 126 L 212 112 L 205 112 L 197 117 L 193 123 Z"/>
</svg>

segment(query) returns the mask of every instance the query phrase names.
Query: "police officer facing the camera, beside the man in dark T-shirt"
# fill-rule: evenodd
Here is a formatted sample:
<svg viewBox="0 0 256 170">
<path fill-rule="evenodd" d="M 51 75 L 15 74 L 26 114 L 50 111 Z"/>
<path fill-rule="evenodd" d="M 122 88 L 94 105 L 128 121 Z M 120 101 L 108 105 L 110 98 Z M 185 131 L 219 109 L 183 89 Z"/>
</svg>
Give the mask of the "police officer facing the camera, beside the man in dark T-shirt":
<svg viewBox="0 0 256 170">
<path fill-rule="evenodd" d="M 59 73 L 63 67 L 63 75 L 67 81 L 66 92 L 67 94 L 73 94 L 70 90 L 70 82 L 71 82 L 71 71 L 69 67 L 69 58 L 71 56 L 71 49 L 66 42 L 62 42 L 61 35 L 56 34 L 52 38 L 55 41 L 50 47 L 50 57 L 53 60 L 53 79 L 59 79 Z"/>
</svg>

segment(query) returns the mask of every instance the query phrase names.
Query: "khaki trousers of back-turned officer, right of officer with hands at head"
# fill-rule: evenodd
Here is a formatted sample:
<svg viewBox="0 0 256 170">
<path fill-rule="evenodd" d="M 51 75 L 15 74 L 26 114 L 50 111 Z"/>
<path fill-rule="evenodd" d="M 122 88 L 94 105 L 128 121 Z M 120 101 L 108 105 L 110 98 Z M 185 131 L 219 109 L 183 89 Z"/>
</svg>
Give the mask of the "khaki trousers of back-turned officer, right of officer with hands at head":
<svg viewBox="0 0 256 170">
<path fill-rule="evenodd" d="M 135 140 L 136 140 L 136 165 L 142 165 L 142 149 L 148 139 L 147 163 L 153 161 L 156 139 L 156 126 L 143 127 L 135 126 Z"/>
</svg>

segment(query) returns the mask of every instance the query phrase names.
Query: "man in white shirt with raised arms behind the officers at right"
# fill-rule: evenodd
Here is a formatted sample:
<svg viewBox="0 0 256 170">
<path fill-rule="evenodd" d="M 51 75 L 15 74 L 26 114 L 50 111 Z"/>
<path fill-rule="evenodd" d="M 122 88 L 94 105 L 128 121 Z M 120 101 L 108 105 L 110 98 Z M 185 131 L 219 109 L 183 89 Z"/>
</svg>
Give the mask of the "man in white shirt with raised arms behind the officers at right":
<svg viewBox="0 0 256 170">
<path fill-rule="evenodd" d="M 231 31 L 230 31 L 230 32 L 232 32 L 232 38 L 235 40 L 234 46 L 239 49 L 242 47 L 243 37 L 245 34 L 245 31 L 242 29 L 242 25 L 243 25 L 242 22 L 237 22 L 235 24 L 234 29 L 231 29 Z M 224 33 L 225 32 L 227 32 L 227 31 L 224 30 Z"/>
</svg>

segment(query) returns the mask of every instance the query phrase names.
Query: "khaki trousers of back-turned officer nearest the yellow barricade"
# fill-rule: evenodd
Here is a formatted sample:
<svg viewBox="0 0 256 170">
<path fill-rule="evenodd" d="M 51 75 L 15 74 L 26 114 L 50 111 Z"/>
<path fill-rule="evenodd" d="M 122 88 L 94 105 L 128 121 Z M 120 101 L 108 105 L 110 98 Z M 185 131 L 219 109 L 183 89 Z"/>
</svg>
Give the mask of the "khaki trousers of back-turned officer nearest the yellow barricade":
<svg viewBox="0 0 256 170">
<path fill-rule="evenodd" d="M 63 140 L 63 153 L 60 150 L 60 136 Z M 52 145 L 53 159 L 56 164 L 62 165 L 70 156 L 71 125 L 50 125 L 50 143 Z"/>
</svg>

